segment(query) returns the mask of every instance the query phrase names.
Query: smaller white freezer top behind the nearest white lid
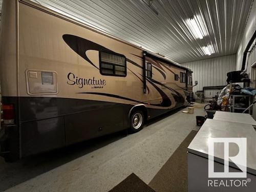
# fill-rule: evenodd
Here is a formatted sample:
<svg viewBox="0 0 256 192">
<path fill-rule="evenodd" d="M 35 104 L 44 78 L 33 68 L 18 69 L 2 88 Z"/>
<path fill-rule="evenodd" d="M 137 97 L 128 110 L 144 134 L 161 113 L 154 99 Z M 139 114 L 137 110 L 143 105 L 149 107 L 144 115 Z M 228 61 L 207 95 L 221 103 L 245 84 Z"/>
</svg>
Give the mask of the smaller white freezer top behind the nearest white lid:
<svg viewBox="0 0 256 192">
<path fill-rule="evenodd" d="M 217 111 L 214 115 L 214 119 L 238 123 L 246 123 L 256 126 L 256 121 L 246 113 L 231 113 L 224 111 Z"/>
</svg>

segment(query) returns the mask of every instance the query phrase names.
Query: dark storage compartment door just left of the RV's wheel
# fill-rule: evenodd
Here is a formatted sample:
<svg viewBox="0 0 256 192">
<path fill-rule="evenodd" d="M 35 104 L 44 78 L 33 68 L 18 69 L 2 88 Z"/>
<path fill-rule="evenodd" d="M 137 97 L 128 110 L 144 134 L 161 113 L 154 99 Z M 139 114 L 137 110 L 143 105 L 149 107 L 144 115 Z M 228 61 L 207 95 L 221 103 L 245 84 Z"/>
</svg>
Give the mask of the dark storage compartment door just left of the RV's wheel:
<svg viewBox="0 0 256 192">
<path fill-rule="evenodd" d="M 120 104 L 65 116 L 67 145 L 123 129 L 123 106 Z"/>
</svg>

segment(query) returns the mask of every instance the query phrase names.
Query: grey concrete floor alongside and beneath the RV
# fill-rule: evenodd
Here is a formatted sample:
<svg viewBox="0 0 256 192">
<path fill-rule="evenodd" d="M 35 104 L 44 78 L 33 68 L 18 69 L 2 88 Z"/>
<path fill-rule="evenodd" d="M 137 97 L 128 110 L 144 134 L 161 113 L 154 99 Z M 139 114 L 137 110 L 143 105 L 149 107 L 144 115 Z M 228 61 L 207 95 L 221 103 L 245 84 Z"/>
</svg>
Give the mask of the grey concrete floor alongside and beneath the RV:
<svg viewBox="0 0 256 192">
<path fill-rule="evenodd" d="M 197 104 L 202 106 L 202 104 Z M 135 173 L 149 183 L 196 126 L 203 108 L 151 120 L 139 133 L 116 133 L 15 163 L 0 158 L 0 191 L 108 191 Z"/>
</svg>

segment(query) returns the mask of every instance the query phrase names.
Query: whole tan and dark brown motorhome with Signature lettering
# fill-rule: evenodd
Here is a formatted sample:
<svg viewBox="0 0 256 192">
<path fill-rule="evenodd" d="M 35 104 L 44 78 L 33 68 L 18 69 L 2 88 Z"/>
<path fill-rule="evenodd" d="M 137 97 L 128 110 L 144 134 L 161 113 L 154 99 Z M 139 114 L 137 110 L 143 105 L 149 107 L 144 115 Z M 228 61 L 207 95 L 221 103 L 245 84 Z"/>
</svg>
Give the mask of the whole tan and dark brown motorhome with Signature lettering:
<svg viewBox="0 0 256 192">
<path fill-rule="evenodd" d="M 30 1 L 4 0 L 6 160 L 130 127 L 186 105 L 191 71 Z"/>
</svg>

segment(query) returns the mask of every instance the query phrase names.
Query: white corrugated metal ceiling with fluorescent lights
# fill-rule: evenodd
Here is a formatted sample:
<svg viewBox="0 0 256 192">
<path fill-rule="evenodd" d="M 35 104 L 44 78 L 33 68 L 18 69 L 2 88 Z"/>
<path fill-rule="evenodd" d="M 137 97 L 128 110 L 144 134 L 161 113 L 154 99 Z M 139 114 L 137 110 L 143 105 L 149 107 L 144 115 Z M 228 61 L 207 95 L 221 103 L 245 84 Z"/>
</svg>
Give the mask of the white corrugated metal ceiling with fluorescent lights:
<svg viewBox="0 0 256 192">
<path fill-rule="evenodd" d="M 32 1 L 183 63 L 236 53 L 253 0 Z M 191 17 L 202 39 L 191 31 Z M 203 49 L 207 46 L 210 56 Z"/>
</svg>

